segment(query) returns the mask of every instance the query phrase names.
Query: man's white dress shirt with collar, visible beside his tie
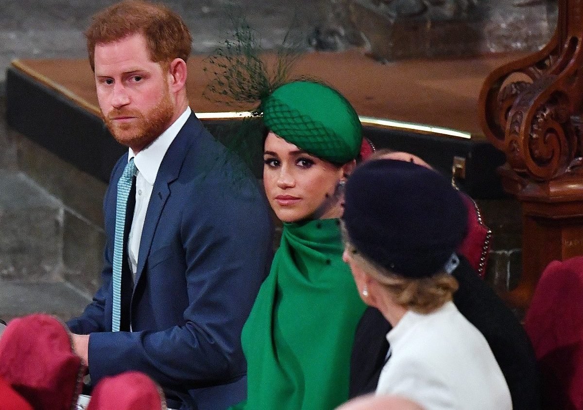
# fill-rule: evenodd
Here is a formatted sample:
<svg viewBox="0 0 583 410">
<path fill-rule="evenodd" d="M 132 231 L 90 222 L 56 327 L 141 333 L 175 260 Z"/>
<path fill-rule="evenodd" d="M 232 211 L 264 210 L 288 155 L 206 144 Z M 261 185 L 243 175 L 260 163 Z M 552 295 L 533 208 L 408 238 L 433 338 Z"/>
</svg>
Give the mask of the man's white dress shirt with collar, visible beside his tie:
<svg viewBox="0 0 583 410">
<path fill-rule="evenodd" d="M 136 277 L 138 270 L 138 256 L 140 250 L 140 242 L 142 240 L 142 230 L 144 221 L 146 220 L 146 211 L 150 203 L 150 196 L 152 196 L 152 189 L 158 169 L 168 147 L 176 138 L 178 131 L 182 129 L 188 117 L 191 114 L 190 107 L 181 114 L 174 123 L 164 131 L 160 137 L 156 138 L 152 144 L 148 145 L 138 154 L 134 154 L 132 148 L 129 148 L 128 162 L 134 158 L 134 164 L 138 168 L 136 173 L 136 206 L 134 209 L 134 219 L 132 220 L 132 227 L 129 230 L 128 237 L 128 259 L 129 266 L 132 269 L 132 276 Z"/>
</svg>

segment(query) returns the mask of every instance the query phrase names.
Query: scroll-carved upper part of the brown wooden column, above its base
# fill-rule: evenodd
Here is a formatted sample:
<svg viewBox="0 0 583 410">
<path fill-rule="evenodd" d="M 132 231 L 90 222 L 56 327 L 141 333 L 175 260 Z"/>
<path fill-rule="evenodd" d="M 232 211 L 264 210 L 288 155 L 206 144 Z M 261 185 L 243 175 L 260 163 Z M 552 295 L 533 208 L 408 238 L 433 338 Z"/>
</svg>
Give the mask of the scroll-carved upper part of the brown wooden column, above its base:
<svg viewBox="0 0 583 410">
<path fill-rule="evenodd" d="M 482 128 L 518 175 L 557 178 L 581 156 L 583 0 L 559 0 L 557 29 L 538 53 L 487 77 Z"/>
</svg>

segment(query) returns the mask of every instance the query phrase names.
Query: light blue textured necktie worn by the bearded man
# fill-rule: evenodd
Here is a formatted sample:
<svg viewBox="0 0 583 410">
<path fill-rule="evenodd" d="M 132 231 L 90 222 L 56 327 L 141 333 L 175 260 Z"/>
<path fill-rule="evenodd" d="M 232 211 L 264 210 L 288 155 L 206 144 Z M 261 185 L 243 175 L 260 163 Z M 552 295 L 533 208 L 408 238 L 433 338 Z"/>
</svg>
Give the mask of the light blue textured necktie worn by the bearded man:
<svg viewBox="0 0 583 410">
<path fill-rule="evenodd" d="M 111 311 L 111 330 L 120 331 L 121 318 L 121 265 L 124 255 L 125 209 L 128 204 L 132 179 L 136 175 L 134 158 L 125 166 L 117 182 L 117 204 L 115 206 L 115 238 L 113 245 L 113 306 Z"/>
</svg>

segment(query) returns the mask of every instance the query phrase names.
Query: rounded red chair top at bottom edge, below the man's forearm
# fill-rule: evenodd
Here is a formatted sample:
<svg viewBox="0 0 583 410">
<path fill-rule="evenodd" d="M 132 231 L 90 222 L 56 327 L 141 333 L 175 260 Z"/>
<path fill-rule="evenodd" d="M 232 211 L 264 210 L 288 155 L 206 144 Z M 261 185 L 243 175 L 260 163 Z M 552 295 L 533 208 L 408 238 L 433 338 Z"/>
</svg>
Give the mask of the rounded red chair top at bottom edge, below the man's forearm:
<svg viewBox="0 0 583 410">
<path fill-rule="evenodd" d="M 166 400 L 160 388 L 143 373 L 127 371 L 104 377 L 93 389 L 87 410 L 160 410 Z"/>
</svg>

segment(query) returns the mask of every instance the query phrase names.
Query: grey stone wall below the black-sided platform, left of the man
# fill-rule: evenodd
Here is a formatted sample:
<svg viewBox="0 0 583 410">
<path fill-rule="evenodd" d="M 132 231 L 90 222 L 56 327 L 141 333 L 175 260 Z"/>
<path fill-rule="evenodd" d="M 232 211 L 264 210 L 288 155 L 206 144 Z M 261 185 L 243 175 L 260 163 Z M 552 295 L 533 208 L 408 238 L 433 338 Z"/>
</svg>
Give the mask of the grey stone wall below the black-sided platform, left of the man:
<svg viewBox="0 0 583 410">
<path fill-rule="evenodd" d="M 0 82 L 0 280 L 68 282 L 81 294 L 99 284 L 106 184 L 5 123 Z"/>
</svg>

